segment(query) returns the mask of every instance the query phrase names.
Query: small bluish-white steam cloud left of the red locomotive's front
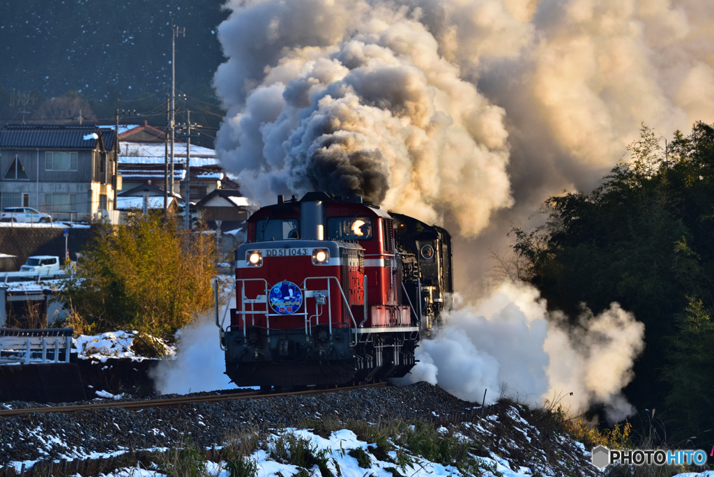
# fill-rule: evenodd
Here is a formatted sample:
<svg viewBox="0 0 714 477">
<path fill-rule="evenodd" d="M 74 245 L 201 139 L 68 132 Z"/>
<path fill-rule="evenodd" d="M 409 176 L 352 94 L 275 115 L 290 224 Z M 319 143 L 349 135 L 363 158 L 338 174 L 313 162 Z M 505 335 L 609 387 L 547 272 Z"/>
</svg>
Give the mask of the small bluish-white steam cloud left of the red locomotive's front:
<svg viewBox="0 0 714 477">
<path fill-rule="evenodd" d="M 151 372 L 151 378 L 160 394 L 235 388 L 223 371 L 226 371 L 226 358 L 218 346 L 214 318 L 209 316 L 198 318 L 181 329 L 176 359 L 160 361 Z"/>
</svg>

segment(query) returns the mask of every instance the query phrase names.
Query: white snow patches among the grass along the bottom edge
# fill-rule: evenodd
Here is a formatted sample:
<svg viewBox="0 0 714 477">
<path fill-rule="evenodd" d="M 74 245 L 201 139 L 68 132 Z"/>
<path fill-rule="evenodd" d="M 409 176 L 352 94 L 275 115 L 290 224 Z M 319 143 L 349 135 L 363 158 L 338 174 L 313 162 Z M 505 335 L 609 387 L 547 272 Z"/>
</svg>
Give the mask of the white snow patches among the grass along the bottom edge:
<svg viewBox="0 0 714 477">
<path fill-rule="evenodd" d="M 41 432 L 41 429 L 37 431 Z M 328 458 L 327 466 L 332 471 L 333 475 L 342 477 L 363 477 L 363 476 L 374 476 L 374 477 L 393 477 L 393 471 L 400 473 L 403 476 L 408 477 L 462 477 L 464 476 L 458 468 L 452 466 L 443 466 L 440 463 L 435 463 L 421 458 L 420 456 L 411 456 L 408 463 L 404 463 L 402 468 L 398 468 L 398 464 L 388 461 L 380 461 L 378 458 L 373 456 L 371 453 L 367 453 L 370 458 L 370 463 L 368 468 L 363 468 L 358 465 L 356 458 L 349 455 L 348 451 L 355 448 L 361 448 L 367 452 L 368 446 L 373 443 L 368 443 L 361 441 L 357 438 L 353 431 L 348 431 L 342 429 L 340 431 L 334 431 L 328 438 L 323 438 L 313 434 L 311 431 L 306 429 L 286 429 L 273 433 L 268 443 L 265 443 L 260 450 L 254 452 L 249 459 L 257 466 L 256 475 L 259 477 L 283 477 L 283 476 L 293 476 L 301 469 L 298 466 L 294 466 L 290 463 L 281 463 L 274 461 L 270 456 L 270 449 L 275 447 L 276 441 L 281 435 L 286 433 L 292 433 L 297 438 L 309 441 L 309 446 L 313 448 L 315 454 L 324 451 L 326 457 Z M 57 437 L 45 436 L 46 440 L 52 441 L 58 439 Z M 265 450 L 268 448 L 268 451 Z M 398 446 L 397 446 L 398 448 Z M 165 448 L 151 448 L 144 449 L 146 451 L 164 451 Z M 404 451 L 404 449 L 401 449 Z M 69 458 L 111 458 L 112 456 L 118 456 L 121 453 L 125 453 L 125 449 L 119 451 L 108 452 L 108 453 L 88 453 L 86 456 L 68 456 Z M 393 461 L 397 461 L 396 451 L 391 451 L 389 453 L 390 458 Z M 483 476 L 503 476 L 503 477 L 526 477 L 532 476 L 533 471 L 528 467 L 520 467 L 518 471 L 513 471 L 508 465 L 508 462 L 502 458 L 478 458 L 481 462 L 479 467 L 483 471 Z M 16 471 L 21 471 L 23 464 L 26 468 L 34 465 L 36 461 L 14 461 L 9 463 L 9 465 L 14 466 Z M 59 460 L 56 462 L 60 462 Z M 156 463 L 154 463 L 156 464 Z M 117 468 L 114 472 L 106 473 L 106 477 L 164 477 L 166 474 L 160 473 L 156 469 L 158 466 L 151 466 L 153 468 L 143 468 L 143 467 L 133 467 L 133 468 Z M 398 468 L 398 470 L 397 470 Z M 339 469 L 339 470 L 338 470 Z M 388 470 L 389 469 L 389 470 Z M 320 470 L 318 466 L 313 466 L 313 468 L 306 469 L 308 471 L 309 477 L 321 477 Z M 226 466 L 225 462 L 214 463 L 208 461 L 206 463 L 206 474 L 215 477 L 230 477 L 230 472 Z M 695 474 L 682 474 L 682 476 L 689 477 Z M 547 476 L 544 476 L 547 477 Z"/>
</svg>

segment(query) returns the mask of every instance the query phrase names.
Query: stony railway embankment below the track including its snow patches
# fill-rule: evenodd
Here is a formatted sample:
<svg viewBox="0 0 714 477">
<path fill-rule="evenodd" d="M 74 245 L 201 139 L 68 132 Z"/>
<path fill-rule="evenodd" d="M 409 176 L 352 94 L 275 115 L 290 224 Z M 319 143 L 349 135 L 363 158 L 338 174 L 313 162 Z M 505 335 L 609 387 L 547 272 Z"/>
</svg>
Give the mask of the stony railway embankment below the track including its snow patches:
<svg viewBox="0 0 714 477">
<path fill-rule="evenodd" d="M 31 406 L 36 405 L 4 404 L 6 408 Z M 280 458 L 276 461 L 271 457 L 266 436 L 284 433 L 286 428 L 302 429 L 295 432 L 305 436 L 308 435 L 306 429 L 312 429 L 311 434 L 315 437 L 310 438 L 311 442 L 320 449 L 326 449 L 329 459 L 335 459 L 341 466 L 344 463 L 341 472 L 345 477 L 362 477 L 367 469 L 351 466 L 353 461 L 343 453 L 349 446 L 343 443 L 340 448 L 339 445 L 340 439 L 348 434 L 340 431 L 351 429 L 359 435 L 368 428 L 375 429 L 373 433 L 383 433 L 387 436 L 383 442 L 389 442 L 388 451 L 383 451 L 378 458 L 371 453 L 371 472 L 378 477 L 416 477 L 413 474 L 418 475 L 422 471 L 463 475 L 456 467 L 449 467 L 459 460 L 448 462 L 433 457 L 429 461 L 425 456 L 428 446 L 411 448 L 428 439 L 433 446 L 445 442 L 448 449 L 461 448 L 463 455 L 458 459 L 471 459 L 472 468 L 496 466 L 496 470 L 504 475 L 525 476 L 540 472 L 544 476 L 558 476 L 572 471 L 576 475 L 596 475 L 584 446 L 560 432 L 547 412 L 531 411 L 508 401 L 478 408 L 428 383 L 316 396 L 274 396 L 196 403 L 146 408 L 136 412 L 111 408 L 72 414 L 9 417 L 3 419 L 3 426 L 0 427 L 0 465 L 11 463 L 18 470 L 23 463 L 26 468 L 44 468 L 50 462 L 60 465 L 66 459 L 71 461 L 68 471 L 74 474 L 78 461 L 115 456 L 112 469 L 104 462 L 103 473 L 129 466 L 131 470 L 124 469 L 117 473 L 134 472 L 136 475 L 136 457 L 131 455 L 139 450 L 176 448 L 187 443 L 203 449 L 213 446 L 221 448 L 231 439 L 235 440 L 237 434 L 243 433 L 245 437 L 246 430 L 255 429 L 261 433 L 263 443 L 251 451 L 253 461 L 261 465 L 262 471 L 258 471 L 257 475 L 280 477 L 276 472 L 289 462 Z M 318 438 L 318 435 L 323 438 Z M 423 436 L 428 436 L 428 439 Z M 348 443 L 365 448 L 373 442 L 368 436 L 361 436 L 360 443 L 353 438 Z M 412 463 L 397 474 L 387 471 L 388 467 L 398 468 L 396 463 L 389 462 L 394 460 L 393 457 L 387 458 L 389 452 L 401 453 L 402 448 L 410 449 Z M 435 451 L 432 455 L 443 455 L 443 452 Z M 161 463 L 160 460 L 156 464 Z M 405 462 L 402 458 L 401 463 Z M 149 463 L 144 462 L 142 468 L 146 466 Z M 80 466 L 79 473 L 87 476 L 90 472 L 81 470 L 84 467 L 85 464 Z M 156 468 L 151 473 L 155 471 Z M 306 472 L 313 473 L 313 469 L 306 468 Z M 390 472 L 391 475 L 388 475 Z M 283 472 L 282 475 L 289 477 L 293 473 Z"/>
</svg>

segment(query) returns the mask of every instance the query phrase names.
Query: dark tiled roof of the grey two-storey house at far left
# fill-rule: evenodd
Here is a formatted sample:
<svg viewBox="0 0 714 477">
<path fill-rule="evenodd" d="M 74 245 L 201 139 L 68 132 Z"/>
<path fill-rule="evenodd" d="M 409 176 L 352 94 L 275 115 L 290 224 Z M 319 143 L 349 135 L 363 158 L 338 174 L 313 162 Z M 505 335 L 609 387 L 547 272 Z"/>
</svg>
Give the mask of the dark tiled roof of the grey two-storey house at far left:
<svg viewBox="0 0 714 477">
<path fill-rule="evenodd" d="M 98 126 L 9 124 L 0 128 L 1 149 L 96 149 L 114 146 L 114 131 Z M 106 146 L 109 139 L 111 146 Z"/>
</svg>

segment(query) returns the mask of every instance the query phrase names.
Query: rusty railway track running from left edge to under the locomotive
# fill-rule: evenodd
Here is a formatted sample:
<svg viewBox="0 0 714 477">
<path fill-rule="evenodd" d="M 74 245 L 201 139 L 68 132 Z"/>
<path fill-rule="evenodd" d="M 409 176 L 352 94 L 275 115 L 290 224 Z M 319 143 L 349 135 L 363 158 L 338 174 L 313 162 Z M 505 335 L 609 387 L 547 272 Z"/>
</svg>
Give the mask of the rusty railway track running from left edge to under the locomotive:
<svg viewBox="0 0 714 477">
<path fill-rule="evenodd" d="M 124 408 L 132 411 L 138 411 L 139 409 L 147 408 L 163 408 L 169 406 L 178 406 L 179 404 L 191 404 L 191 403 L 215 403 L 218 401 L 233 401 L 235 399 L 246 399 L 246 398 L 274 398 L 276 396 L 309 396 L 311 394 L 321 394 L 321 393 L 332 393 L 335 391 L 351 391 L 353 389 L 361 388 L 378 388 L 386 386 L 387 383 L 371 383 L 363 384 L 361 386 L 343 386 L 338 388 L 329 389 L 306 389 L 303 391 L 285 391 L 285 392 L 274 392 L 265 393 L 263 391 L 251 391 L 248 393 L 231 393 L 231 394 L 218 394 L 216 396 L 191 396 L 184 398 L 171 398 L 171 399 L 149 399 L 147 401 L 125 401 L 125 402 L 109 402 L 109 403 L 92 403 L 92 404 L 77 404 L 74 406 L 48 406 L 44 408 L 26 408 L 26 409 L 2 409 L 0 410 L 0 417 L 9 416 L 21 416 L 23 414 L 30 413 L 74 413 L 79 411 L 92 411 L 94 409 L 108 409 L 108 408 Z"/>
</svg>

